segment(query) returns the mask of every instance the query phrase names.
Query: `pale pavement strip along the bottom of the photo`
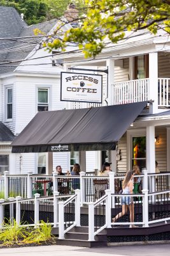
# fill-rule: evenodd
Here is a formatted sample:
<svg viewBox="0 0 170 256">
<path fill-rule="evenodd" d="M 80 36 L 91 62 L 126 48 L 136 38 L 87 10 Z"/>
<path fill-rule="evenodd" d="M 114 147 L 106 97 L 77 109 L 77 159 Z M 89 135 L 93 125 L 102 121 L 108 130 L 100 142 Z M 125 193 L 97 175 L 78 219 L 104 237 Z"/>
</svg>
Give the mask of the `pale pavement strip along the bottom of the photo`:
<svg viewBox="0 0 170 256">
<path fill-rule="evenodd" d="M 35 246 L 0 249 L 1 256 L 170 256 L 168 244 L 82 248 L 73 246 Z"/>
</svg>

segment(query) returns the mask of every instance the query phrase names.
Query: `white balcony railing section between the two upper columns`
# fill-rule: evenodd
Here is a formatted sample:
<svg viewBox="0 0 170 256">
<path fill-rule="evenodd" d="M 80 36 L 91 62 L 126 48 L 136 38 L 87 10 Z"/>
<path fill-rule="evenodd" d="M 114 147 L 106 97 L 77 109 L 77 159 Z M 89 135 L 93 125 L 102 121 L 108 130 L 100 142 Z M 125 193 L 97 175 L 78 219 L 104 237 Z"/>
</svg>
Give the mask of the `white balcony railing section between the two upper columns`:
<svg viewBox="0 0 170 256">
<path fill-rule="evenodd" d="M 147 101 L 149 79 L 138 79 L 113 84 L 113 105 Z"/>
</svg>

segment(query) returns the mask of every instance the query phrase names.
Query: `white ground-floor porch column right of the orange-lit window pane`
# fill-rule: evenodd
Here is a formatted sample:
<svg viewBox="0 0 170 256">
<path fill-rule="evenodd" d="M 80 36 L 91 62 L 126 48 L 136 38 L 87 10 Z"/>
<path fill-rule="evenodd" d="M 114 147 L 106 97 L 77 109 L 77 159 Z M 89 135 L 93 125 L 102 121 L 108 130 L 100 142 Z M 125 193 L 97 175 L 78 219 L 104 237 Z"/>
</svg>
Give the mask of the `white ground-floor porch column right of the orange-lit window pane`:
<svg viewBox="0 0 170 256">
<path fill-rule="evenodd" d="M 155 172 L 155 127 L 146 127 L 146 169 Z"/>
</svg>

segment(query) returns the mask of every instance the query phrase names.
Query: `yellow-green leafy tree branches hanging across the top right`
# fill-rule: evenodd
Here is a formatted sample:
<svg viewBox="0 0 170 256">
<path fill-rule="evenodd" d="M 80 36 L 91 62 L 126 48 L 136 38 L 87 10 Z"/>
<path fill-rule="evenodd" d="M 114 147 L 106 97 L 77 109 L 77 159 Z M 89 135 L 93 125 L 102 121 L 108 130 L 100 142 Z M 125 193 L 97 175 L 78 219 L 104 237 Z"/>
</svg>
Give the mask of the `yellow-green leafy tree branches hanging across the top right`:
<svg viewBox="0 0 170 256">
<path fill-rule="evenodd" d="M 125 31 L 148 29 L 157 33 L 164 29 L 170 33 L 170 0 L 85 0 L 87 15 L 81 18 L 80 28 L 71 28 L 60 35 L 60 27 L 55 38 L 50 38 L 44 46 L 48 50 L 65 51 L 67 42 L 78 43 L 85 57 L 96 56 L 106 47 L 106 41 L 117 43 L 125 36 Z M 60 24 L 63 26 L 63 24 Z"/>
</svg>

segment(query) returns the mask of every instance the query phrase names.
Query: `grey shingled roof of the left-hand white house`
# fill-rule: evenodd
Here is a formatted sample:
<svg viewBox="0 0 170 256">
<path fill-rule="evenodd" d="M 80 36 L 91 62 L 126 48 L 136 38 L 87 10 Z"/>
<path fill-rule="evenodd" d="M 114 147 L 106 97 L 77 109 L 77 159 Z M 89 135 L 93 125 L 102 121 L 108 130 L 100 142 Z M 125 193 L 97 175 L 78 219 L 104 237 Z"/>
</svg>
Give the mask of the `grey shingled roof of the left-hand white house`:
<svg viewBox="0 0 170 256">
<path fill-rule="evenodd" d="M 0 63 L 13 60 L 24 60 L 27 55 L 41 42 L 41 38 L 22 38 L 24 36 L 34 36 L 34 29 L 38 28 L 48 33 L 57 23 L 57 19 L 48 20 L 39 24 L 28 26 L 21 19 L 20 14 L 12 7 L 0 6 L 0 38 L 21 37 L 18 42 L 13 40 L 3 40 L 0 45 Z M 11 49 L 13 47 L 13 49 Z M 9 49 L 10 48 L 10 49 Z M 21 63 L 0 65 L 0 74 L 13 72 Z M 5 66 L 5 67 L 4 67 Z"/>
</svg>

